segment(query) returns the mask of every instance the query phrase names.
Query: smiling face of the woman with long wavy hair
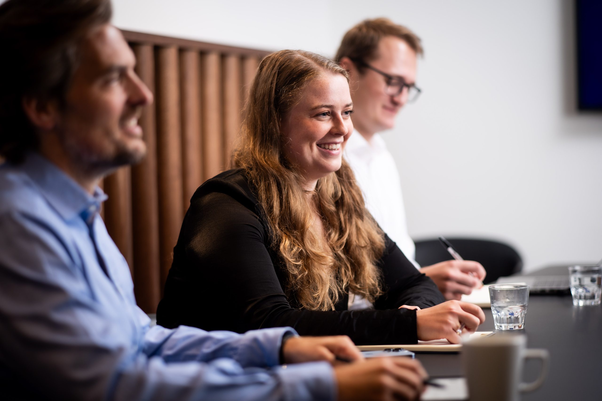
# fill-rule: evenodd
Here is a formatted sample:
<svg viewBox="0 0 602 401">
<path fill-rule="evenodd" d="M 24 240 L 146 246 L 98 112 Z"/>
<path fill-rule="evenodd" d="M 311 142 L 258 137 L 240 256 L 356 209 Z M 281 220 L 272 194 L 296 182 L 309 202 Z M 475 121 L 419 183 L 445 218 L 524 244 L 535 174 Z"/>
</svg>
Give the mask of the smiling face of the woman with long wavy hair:
<svg viewBox="0 0 602 401">
<path fill-rule="evenodd" d="M 282 118 L 284 156 L 299 168 L 305 189 L 313 190 L 318 179 L 341 168 L 343 149 L 353 132 L 352 112 L 347 79 L 324 72 L 308 82 Z"/>
</svg>

